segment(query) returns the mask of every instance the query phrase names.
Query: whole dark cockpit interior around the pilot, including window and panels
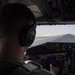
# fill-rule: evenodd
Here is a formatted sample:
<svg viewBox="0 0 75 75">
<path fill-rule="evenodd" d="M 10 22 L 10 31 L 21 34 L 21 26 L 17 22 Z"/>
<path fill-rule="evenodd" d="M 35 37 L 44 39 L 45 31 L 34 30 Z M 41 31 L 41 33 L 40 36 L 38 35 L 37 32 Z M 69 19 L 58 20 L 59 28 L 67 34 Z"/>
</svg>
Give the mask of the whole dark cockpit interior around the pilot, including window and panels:
<svg viewBox="0 0 75 75">
<path fill-rule="evenodd" d="M 75 1 L 74 0 L 0 0 L 24 3 L 36 17 L 36 37 L 25 53 L 50 70 L 50 64 L 59 68 L 57 75 L 75 74 Z"/>
</svg>

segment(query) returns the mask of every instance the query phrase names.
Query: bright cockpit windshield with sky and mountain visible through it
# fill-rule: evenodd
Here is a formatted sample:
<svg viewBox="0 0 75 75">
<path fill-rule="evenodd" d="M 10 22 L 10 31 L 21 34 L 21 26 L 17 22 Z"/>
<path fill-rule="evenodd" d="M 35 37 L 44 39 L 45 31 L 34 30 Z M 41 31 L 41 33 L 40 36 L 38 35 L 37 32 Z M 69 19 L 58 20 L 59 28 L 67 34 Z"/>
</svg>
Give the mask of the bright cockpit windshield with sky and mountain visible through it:
<svg viewBox="0 0 75 75">
<path fill-rule="evenodd" d="M 75 42 L 75 25 L 37 26 L 36 38 L 32 46 L 46 42 Z"/>
</svg>

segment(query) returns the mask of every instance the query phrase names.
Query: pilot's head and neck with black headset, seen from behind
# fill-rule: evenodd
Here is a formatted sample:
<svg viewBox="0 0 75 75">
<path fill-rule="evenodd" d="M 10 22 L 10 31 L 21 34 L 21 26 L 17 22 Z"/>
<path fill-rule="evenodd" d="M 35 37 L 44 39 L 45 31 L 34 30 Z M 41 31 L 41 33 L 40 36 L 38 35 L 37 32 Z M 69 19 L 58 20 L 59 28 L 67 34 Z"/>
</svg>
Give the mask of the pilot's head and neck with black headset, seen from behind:
<svg viewBox="0 0 75 75">
<path fill-rule="evenodd" d="M 4 5 L 0 14 L 0 51 L 3 55 L 20 57 L 35 39 L 35 16 L 20 3 Z"/>
</svg>

